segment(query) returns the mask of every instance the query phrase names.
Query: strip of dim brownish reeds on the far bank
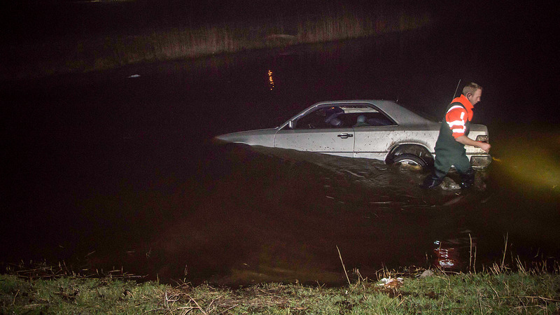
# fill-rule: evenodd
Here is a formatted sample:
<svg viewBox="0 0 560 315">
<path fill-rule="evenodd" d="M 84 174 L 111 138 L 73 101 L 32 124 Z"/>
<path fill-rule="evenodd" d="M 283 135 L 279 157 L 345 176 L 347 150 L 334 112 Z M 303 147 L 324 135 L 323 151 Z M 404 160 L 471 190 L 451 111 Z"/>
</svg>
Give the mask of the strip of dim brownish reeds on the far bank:
<svg viewBox="0 0 560 315">
<path fill-rule="evenodd" d="M 0 78 L 111 69 L 138 62 L 375 36 L 429 23 L 429 14 L 414 8 L 321 8 L 303 15 L 216 21 L 201 27 L 151 27 L 132 34 L 130 30 L 117 30 L 106 36 L 22 40 L 1 48 L 7 62 L 0 66 Z"/>
</svg>

